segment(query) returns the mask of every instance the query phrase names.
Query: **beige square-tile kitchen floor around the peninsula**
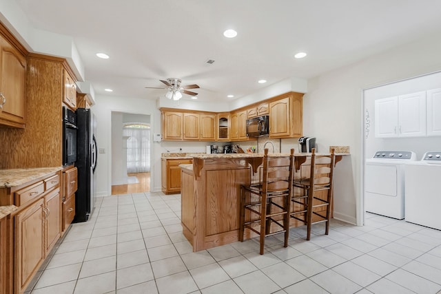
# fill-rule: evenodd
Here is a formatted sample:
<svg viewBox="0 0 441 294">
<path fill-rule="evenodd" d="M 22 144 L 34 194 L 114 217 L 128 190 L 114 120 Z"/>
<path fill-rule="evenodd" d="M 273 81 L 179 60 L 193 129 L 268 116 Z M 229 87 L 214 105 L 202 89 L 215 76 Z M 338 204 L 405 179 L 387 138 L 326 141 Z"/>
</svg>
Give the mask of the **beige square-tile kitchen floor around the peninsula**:
<svg viewBox="0 0 441 294">
<path fill-rule="evenodd" d="M 441 231 L 367 213 L 282 238 L 193 253 L 182 235 L 180 195 L 101 197 L 72 224 L 27 293 L 440 293 Z"/>
</svg>

